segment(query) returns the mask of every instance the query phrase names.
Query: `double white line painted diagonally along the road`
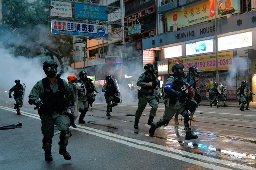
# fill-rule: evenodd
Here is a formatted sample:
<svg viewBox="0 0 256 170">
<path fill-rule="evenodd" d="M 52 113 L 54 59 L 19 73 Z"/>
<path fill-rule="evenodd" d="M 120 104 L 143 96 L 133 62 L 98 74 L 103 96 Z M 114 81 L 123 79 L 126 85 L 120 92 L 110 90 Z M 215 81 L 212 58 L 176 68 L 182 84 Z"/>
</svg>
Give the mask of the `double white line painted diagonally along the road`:
<svg viewBox="0 0 256 170">
<path fill-rule="evenodd" d="M 4 110 L 7 110 L 7 111 L 10 111 L 10 112 L 16 113 L 16 111 L 14 109 L 11 109 L 11 108 L 8 108 L 8 107 L 0 106 L 0 108 L 2 108 Z M 22 115 L 24 115 L 24 116 L 28 116 L 28 117 L 31 117 L 31 118 L 41 120 L 39 118 L 39 115 L 35 115 L 35 114 L 27 113 L 27 112 L 20 112 L 20 113 L 22 113 Z M 240 164 L 236 164 L 236 163 L 232 163 L 232 162 L 225 161 L 225 160 L 219 160 L 219 159 L 210 158 L 210 157 L 206 157 L 206 156 L 202 156 L 202 155 L 197 155 L 197 154 L 194 154 L 194 153 L 189 153 L 189 152 L 186 152 L 186 151 L 157 145 L 155 143 L 150 143 L 150 142 L 146 142 L 146 141 L 141 141 L 141 140 L 137 140 L 137 139 L 128 138 L 128 137 L 113 134 L 113 133 L 110 133 L 110 132 L 105 132 L 105 131 L 101 131 L 101 130 L 98 130 L 98 129 L 89 128 L 89 127 L 86 127 L 86 126 L 81 126 L 81 125 L 76 125 L 76 126 L 78 128 L 74 129 L 74 128 L 71 127 L 71 129 L 81 131 L 81 132 L 85 132 L 85 133 L 95 135 L 95 136 L 98 136 L 98 137 L 102 137 L 102 138 L 105 138 L 105 139 L 108 139 L 108 140 L 112 140 L 112 141 L 122 143 L 122 144 L 127 145 L 127 146 L 131 146 L 131 147 L 134 147 L 134 148 L 145 150 L 145 151 L 148 151 L 148 152 L 153 152 L 153 153 L 164 155 L 164 156 L 171 157 L 171 158 L 174 158 L 174 159 L 182 160 L 184 162 L 191 163 L 191 164 L 194 164 L 194 165 L 198 165 L 198 166 L 201 166 L 201 167 L 204 167 L 204 168 L 209 168 L 209 169 L 214 169 L 214 170 L 220 170 L 220 169 L 228 170 L 227 168 L 219 167 L 219 166 L 208 164 L 208 163 L 203 163 L 203 162 L 200 162 L 198 160 L 186 158 L 186 157 L 179 156 L 179 155 L 172 154 L 172 153 L 168 153 L 168 152 L 163 152 L 163 151 L 160 151 L 160 150 L 157 150 L 157 149 L 148 148 L 148 147 L 141 146 L 141 145 L 147 145 L 147 146 L 151 146 L 151 147 L 166 150 L 166 151 L 171 151 L 171 152 L 178 153 L 178 154 L 181 154 L 181 155 L 184 155 L 184 156 L 189 156 L 189 157 L 194 157 L 194 158 L 198 158 L 198 159 L 201 159 L 201 160 L 206 160 L 208 162 L 223 164 L 223 165 L 226 165 L 226 166 L 229 166 L 229 167 L 232 167 L 232 168 L 240 168 L 240 169 L 243 169 L 243 170 L 255 170 L 255 168 L 240 165 Z M 82 129 L 80 129 L 80 128 L 82 128 Z M 90 130 L 90 131 L 86 131 L 84 129 L 87 129 L 87 130 Z M 95 132 L 91 132 L 91 131 L 95 131 Z M 108 135 L 108 136 L 106 136 L 106 135 Z M 120 139 L 123 139 L 123 140 L 120 140 Z M 125 140 L 127 140 L 127 141 L 125 141 Z M 131 142 L 128 142 L 128 141 L 138 143 L 138 145 L 134 144 L 134 143 L 131 143 Z"/>
</svg>

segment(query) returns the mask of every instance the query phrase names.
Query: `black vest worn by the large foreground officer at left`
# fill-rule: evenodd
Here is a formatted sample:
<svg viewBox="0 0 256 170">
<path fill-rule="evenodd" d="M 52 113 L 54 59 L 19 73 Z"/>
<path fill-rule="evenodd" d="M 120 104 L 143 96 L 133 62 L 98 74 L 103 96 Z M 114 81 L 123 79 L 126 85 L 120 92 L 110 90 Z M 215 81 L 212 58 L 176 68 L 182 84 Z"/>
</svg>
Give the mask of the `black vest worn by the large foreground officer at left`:
<svg viewBox="0 0 256 170">
<path fill-rule="evenodd" d="M 58 91 L 55 93 L 51 89 L 48 78 L 42 79 L 44 95 L 41 99 L 43 101 L 43 112 L 53 113 L 62 112 L 67 110 L 68 105 L 68 91 L 65 89 L 64 82 L 62 79 L 57 80 Z"/>
</svg>

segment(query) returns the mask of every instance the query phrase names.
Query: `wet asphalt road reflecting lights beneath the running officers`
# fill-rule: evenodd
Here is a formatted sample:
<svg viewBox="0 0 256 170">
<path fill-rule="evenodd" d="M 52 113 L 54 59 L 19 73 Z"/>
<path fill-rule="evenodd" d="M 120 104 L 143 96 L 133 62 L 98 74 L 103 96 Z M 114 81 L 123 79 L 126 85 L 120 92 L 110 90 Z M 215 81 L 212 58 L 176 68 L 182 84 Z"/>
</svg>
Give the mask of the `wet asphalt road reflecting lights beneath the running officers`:
<svg viewBox="0 0 256 170">
<path fill-rule="evenodd" d="M 6 103 L 7 102 L 7 103 Z M 241 112 L 233 107 L 199 106 L 192 122 L 198 139 L 185 141 L 183 121 L 148 134 L 148 105 L 139 129 L 133 128 L 137 103 L 123 103 L 105 115 L 106 104 L 97 101 L 89 108 L 86 124 L 71 129 L 67 161 L 58 154 L 58 135 L 53 138 L 53 159 L 44 161 L 40 118 L 25 104 L 16 115 L 13 99 L 0 97 L 0 126 L 23 123 L 22 128 L 0 133 L 1 169 L 254 169 L 256 168 L 256 109 Z M 154 121 L 162 117 L 159 104 Z M 202 112 L 202 114 L 199 114 Z M 55 128 L 57 131 L 57 128 Z"/>
</svg>

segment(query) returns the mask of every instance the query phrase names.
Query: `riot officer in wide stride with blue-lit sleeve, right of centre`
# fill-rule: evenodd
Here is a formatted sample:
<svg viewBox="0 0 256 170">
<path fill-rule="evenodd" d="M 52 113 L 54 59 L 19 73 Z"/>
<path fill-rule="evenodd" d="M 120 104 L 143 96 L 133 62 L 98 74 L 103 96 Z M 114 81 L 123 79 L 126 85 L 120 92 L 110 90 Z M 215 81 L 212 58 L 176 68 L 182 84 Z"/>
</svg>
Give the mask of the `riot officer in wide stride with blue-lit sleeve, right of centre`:
<svg viewBox="0 0 256 170">
<path fill-rule="evenodd" d="M 184 117 L 184 130 L 186 131 L 186 140 L 197 139 L 197 135 L 191 133 L 191 115 L 188 111 L 193 112 L 197 104 L 191 101 L 189 90 L 186 90 L 186 85 L 183 81 L 187 74 L 184 73 L 184 66 L 182 63 L 177 62 L 172 66 L 174 75 L 170 76 L 165 84 L 165 111 L 163 118 L 155 123 L 151 123 L 149 133 L 154 135 L 155 130 L 162 125 L 167 126 L 177 112 Z M 190 87 L 190 92 L 194 92 L 194 89 Z M 188 93 L 187 93 L 188 92 Z"/>
</svg>

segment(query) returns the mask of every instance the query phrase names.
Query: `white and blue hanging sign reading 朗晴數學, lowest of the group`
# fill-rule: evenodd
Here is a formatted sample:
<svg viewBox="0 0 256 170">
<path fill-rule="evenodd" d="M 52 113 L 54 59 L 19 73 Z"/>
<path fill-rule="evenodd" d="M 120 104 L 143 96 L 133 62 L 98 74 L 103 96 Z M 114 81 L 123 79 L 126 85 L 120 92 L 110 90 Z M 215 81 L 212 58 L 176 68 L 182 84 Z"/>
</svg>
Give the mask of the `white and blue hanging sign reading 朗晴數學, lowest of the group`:
<svg viewBox="0 0 256 170">
<path fill-rule="evenodd" d="M 72 21 L 51 20 L 53 34 L 108 38 L 108 26 Z"/>
</svg>

